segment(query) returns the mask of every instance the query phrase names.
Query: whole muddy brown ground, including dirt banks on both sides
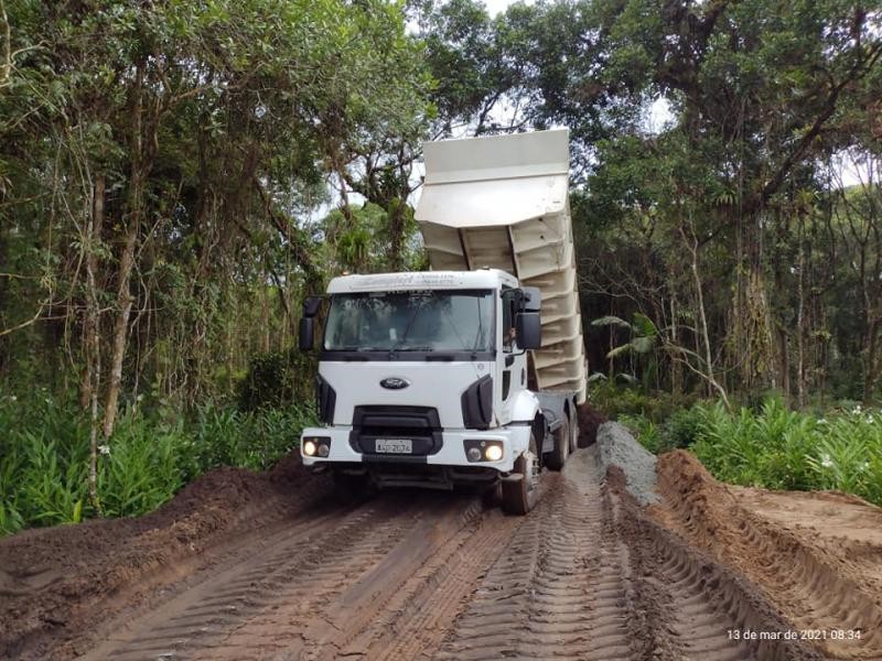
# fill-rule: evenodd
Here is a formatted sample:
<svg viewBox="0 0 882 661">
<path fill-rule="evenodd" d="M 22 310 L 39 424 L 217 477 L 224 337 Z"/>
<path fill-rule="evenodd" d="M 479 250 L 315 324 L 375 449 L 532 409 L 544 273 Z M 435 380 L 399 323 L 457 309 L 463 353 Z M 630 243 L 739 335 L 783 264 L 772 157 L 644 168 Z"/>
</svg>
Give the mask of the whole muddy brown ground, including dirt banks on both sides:
<svg viewBox="0 0 882 661">
<path fill-rule="evenodd" d="M 602 480 L 594 447 L 580 449 L 561 474 L 544 476 L 541 501 L 524 518 L 477 495 L 338 502 L 326 480 L 292 470 L 212 492 L 211 525 L 195 505 L 142 528 L 109 522 L 121 531 L 116 548 L 114 534 L 90 550 L 80 535 L 74 548 L 90 557 L 55 570 L 39 549 L 57 532 L 0 542 L 0 655 L 882 658 L 878 584 L 853 582 L 882 544 L 854 541 L 862 555 L 837 564 L 813 535 L 788 532 L 784 519 L 796 510 L 729 490 L 685 453 L 663 458 L 663 501 L 645 509 L 621 472 Z M 233 502 L 235 519 L 225 509 Z M 96 564 L 104 571 L 84 568 Z M 814 628 L 860 639 L 794 635 Z"/>
</svg>

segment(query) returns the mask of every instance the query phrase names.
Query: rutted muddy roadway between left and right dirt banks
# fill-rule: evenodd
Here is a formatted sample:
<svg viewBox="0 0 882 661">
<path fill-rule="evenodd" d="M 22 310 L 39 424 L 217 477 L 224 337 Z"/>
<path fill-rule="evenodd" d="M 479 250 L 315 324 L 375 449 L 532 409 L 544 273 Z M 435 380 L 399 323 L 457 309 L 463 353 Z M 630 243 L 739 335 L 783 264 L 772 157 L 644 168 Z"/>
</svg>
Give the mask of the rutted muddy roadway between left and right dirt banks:
<svg viewBox="0 0 882 661">
<path fill-rule="evenodd" d="M 639 508 L 595 448 L 508 517 L 390 491 L 306 510 L 121 626 L 88 658 L 816 659 L 728 631 L 786 625 L 755 587 Z"/>
</svg>

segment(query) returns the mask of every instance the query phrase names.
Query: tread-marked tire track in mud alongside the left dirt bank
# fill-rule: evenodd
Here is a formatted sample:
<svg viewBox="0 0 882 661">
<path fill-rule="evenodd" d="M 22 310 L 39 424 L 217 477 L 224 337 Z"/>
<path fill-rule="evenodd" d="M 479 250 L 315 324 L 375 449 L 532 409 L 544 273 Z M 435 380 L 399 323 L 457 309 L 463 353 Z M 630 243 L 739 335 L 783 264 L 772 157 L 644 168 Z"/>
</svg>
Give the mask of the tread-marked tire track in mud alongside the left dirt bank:
<svg viewBox="0 0 882 661">
<path fill-rule="evenodd" d="M 185 659 L 200 655 L 275 600 L 305 610 L 383 557 L 412 523 L 416 503 L 368 502 L 308 517 L 250 556 L 222 565 L 200 585 L 154 609 L 131 631 L 86 659 Z M 327 557 L 333 557 L 329 572 Z"/>
</svg>

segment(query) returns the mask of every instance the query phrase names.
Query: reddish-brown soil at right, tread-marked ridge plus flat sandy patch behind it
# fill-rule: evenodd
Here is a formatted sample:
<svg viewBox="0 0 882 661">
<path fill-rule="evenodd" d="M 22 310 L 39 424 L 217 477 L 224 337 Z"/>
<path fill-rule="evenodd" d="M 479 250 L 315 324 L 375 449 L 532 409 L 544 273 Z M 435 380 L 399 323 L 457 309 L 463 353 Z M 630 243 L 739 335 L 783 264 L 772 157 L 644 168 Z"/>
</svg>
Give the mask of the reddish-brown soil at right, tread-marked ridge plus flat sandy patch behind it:
<svg viewBox="0 0 882 661">
<path fill-rule="evenodd" d="M 733 489 L 684 451 L 660 457 L 658 479 L 656 518 L 757 585 L 825 655 L 882 658 L 882 510 L 837 494 Z"/>
</svg>

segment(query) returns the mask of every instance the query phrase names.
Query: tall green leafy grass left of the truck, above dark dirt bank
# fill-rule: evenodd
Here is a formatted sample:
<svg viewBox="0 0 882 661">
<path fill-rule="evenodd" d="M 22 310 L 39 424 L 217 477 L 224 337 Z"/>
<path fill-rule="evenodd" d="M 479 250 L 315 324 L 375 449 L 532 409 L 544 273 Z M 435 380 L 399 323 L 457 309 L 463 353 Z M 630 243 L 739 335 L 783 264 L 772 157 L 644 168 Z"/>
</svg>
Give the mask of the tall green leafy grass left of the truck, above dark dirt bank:
<svg viewBox="0 0 882 661">
<path fill-rule="evenodd" d="M 311 422 L 305 407 L 243 413 L 205 404 L 190 416 L 131 407 L 99 457 L 100 514 L 149 512 L 218 466 L 268 468 Z M 0 535 L 99 514 L 88 502 L 88 429 L 72 403 L 0 394 Z"/>
</svg>

